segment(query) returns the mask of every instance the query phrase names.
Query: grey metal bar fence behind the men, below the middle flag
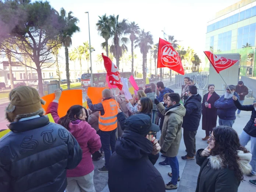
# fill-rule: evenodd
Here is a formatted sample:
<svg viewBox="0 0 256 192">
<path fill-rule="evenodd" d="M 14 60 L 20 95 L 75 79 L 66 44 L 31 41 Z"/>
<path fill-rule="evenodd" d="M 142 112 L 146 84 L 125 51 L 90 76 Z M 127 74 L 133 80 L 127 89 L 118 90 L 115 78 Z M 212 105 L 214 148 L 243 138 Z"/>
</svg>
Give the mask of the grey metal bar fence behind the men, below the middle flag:
<svg viewBox="0 0 256 192">
<path fill-rule="evenodd" d="M 202 71 L 203 72 L 203 71 Z M 202 73 L 200 72 L 200 73 Z M 175 75 L 175 84 L 176 87 L 181 87 L 184 85 L 184 77 L 189 77 L 193 80 L 194 83 L 198 84 L 198 88 L 204 88 L 205 85 L 208 85 L 209 82 L 209 72 L 205 71 L 205 74 L 199 74 L 199 72 L 196 73 L 189 73 L 185 75 Z"/>
</svg>

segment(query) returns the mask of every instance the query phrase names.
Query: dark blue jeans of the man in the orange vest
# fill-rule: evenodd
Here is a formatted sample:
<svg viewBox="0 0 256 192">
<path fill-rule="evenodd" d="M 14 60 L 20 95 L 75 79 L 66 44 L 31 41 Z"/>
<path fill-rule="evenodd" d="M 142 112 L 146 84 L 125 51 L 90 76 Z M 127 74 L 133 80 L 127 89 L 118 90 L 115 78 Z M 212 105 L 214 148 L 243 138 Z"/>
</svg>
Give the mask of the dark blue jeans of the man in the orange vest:
<svg viewBox="0 0 256 192">
<path fill-rule="evenodd" d="M 102 149 L 105 155 L 105 167 L 109 168 L 109 159 L 111 154 L 115 152 L 115 132 L 113 131 L 100 131 L 100 141 L 102 143 Z M 110 151 L 111 147 L 111 151 Z M 111 153 L 112 152 L 112 153 Z"/>
</svg>

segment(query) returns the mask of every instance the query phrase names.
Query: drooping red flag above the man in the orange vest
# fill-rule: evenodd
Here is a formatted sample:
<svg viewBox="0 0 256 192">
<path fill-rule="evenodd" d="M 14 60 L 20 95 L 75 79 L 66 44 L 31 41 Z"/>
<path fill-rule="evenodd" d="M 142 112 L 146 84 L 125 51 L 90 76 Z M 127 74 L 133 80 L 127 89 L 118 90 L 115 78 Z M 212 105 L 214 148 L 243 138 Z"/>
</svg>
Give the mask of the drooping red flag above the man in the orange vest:
<svg viewBox="0 0 256 192">
<path fill-rule="evenodd" d="M 104 60 L 105 69 L 107 71 L 107 76 L 109 77 L 110 85 L 115 85 L 118 87 L 118 89 L 122 90 L 123 85 L 117 66 L 115 66 L 115 64 L 111 61 L 109 57 L 104 56 L 103 53 L 102 57 Z"/>
</svg>

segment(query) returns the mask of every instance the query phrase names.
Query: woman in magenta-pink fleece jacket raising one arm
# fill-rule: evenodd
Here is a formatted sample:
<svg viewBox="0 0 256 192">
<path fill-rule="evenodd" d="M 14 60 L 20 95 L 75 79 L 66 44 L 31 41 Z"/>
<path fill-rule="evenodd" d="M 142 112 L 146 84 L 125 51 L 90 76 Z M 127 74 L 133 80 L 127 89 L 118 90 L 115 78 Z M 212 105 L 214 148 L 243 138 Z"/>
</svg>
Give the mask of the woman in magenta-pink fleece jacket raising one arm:
<svg viewBox="0 0 256 192">
<path fill-rule="evenodd" d="M 51 113 L 57 124 L 68 129 L 77 139 L 83 151 L 79 165 L 72 170 L 67 170 L 66 192 L 95 192 L 93 184 L 94 165 L 91 155 L 100 149 L 100 137 L 96 134 L 95 129 L 86 122 L 88 113 L 84 107 L 74 105 L 70 107 L 64 117 L 58 116 L 58 100 L 61 92 L 60 89 L 54 91 L 55 99 L 49 104 L 46 114 Z"/>
</svg>

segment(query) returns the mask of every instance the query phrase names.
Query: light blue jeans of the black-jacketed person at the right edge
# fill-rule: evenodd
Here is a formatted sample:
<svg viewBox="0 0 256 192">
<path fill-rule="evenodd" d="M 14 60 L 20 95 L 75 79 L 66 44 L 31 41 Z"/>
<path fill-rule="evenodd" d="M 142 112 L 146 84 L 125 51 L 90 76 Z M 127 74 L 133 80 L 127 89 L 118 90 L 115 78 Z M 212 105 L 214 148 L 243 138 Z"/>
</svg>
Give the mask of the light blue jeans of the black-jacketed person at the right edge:
<svg viewBox="0 0 256 192">
<path fill-rule="evenodd" d="M 252 160 L 250 165 L 252 166 L 252 171 L 256 173 L 256 137 L 248 135 L 245 131 L 242 131 L 240 137 L 240 144 L 245 147 L 249 141 L 251 141 Z"/>
</svg>

